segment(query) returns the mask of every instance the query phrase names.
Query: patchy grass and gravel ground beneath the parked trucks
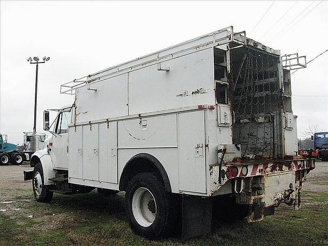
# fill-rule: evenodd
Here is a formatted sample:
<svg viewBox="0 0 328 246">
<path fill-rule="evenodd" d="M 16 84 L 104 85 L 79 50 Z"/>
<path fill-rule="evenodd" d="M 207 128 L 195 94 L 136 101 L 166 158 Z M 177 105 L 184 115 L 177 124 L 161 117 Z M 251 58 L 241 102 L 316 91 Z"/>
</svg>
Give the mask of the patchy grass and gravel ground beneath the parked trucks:
<svg viewBox="0 0 328 246">
<path fill-rule="evenodd" d="M 304 191 L 300 211 L 281 206 L 262 222 L 214 221 L 209 236 L 160 241 L 147 240 L 131 231 L 124 212 L 124 193 L 107 198 L 96 192 L 55 194 L 52 203 L 38 203 L 31 183 L 22 181 L 18 188 L 3 186 L 1 197 L 1 209 L 6 210 L 0 213 L 1 246 L 328 245 L 326 191 Z"/>
</svg>

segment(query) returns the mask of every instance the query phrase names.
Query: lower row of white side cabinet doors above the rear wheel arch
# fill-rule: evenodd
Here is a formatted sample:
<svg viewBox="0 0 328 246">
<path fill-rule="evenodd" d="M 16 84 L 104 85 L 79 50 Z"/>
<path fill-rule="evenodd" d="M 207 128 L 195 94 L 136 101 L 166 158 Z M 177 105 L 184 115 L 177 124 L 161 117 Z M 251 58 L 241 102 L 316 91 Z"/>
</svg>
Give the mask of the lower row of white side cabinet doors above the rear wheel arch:
<svg viewBox="0 0 328 246">
<path fill-rule="evenodd" d="M 207 111 L 196 110 L 110 121 L 108 127 L 107 122 L 71 126 L 70 182 L 118 189 L 118 185 L 111 184 L 118 183 L 128 160 L 138 153 L 148 153 L 162 163 L 172 192 L 206 194 L 204 114 Z"/>
</svg>

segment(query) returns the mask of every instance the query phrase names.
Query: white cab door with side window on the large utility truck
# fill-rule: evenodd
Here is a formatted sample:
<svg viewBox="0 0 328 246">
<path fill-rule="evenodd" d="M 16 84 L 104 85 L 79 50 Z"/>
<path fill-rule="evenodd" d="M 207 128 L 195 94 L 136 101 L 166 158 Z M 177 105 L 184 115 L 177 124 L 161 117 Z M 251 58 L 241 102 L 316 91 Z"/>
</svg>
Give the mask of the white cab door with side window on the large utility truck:
<svg viewBox="0 0 328 246">
<path fill-rule="evenodd" d="M 58 114 L 54 132 L 58 135 L 52 136 L 50 146 L 50 157 L 54 168 L 68 168 L 68 125 L 72 122 L 72 111 L 61 111 Z"/>
</svg>

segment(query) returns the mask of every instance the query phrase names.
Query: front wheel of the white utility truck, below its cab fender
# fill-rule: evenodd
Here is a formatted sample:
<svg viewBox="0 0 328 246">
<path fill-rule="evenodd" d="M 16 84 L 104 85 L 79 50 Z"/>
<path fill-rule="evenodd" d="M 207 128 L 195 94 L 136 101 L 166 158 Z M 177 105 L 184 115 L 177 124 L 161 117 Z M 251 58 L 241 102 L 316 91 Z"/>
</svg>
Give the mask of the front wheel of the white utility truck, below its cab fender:
<svg viewBox="0 0 328 246">
<path fill-rule="evenodd" d="M 42 183 L 39 183 L 39 176 L 42 179 Z M 51 186 L 45 186 L 44 174 L 42 165 L 37 162 L 33 170 L 32 188 L 35 200 L 39 202 L 50 202 L 52 200 L 53 192 L 50 192 Z"/>
</svg>

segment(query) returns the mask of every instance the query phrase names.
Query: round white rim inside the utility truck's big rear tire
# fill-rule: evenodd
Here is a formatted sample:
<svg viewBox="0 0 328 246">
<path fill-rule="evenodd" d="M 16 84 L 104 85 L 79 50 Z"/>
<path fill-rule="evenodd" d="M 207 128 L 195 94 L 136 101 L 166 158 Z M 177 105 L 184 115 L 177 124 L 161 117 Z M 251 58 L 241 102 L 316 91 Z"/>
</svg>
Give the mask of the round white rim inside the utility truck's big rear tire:
<svg viewBox="0 0 328 246">
<path fill-rule="evenodd" d="M 139 188 L 132 197 L 132 213 L 142 227 L 149 227 L 156 218 L 156 201 L 146 188 Z"/>
</svg>

